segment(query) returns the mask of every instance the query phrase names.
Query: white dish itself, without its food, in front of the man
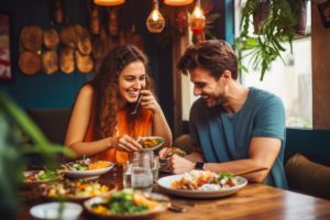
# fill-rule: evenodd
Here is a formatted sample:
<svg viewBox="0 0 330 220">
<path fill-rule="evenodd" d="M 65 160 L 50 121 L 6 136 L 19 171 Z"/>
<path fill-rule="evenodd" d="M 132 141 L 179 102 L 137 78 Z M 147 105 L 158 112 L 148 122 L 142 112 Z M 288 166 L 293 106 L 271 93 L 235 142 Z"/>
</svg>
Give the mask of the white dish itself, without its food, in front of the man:
<svg viewBox="0 0 330 220">
<path fill-rule="evenodd" d="M 234 178 L 238 180 L 238 185 L 230 188 L 223 188 L 220 190 L 208 190 L 208 191 L 201 191 L 201 190 L 183 190 L 183 189 L 173 189 L 170 188 L 170 185 L 173 182 L 183 178 L 184 175 L 172 175 L 166 176 L 163 178 L 160 178 L 157 184 L 161 188 L 164 190 L 174 194 L 176 196 L 183 196 L 183 197 L 189 197 L 189 198 L 217 198 L 217 197 L 224 197 L 232 195 L 246 186 L 248 180 L 243 177 L 235 176 Z"/>
</svg>

